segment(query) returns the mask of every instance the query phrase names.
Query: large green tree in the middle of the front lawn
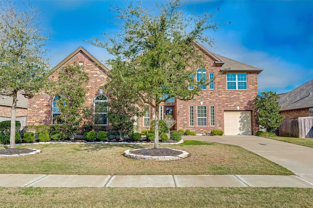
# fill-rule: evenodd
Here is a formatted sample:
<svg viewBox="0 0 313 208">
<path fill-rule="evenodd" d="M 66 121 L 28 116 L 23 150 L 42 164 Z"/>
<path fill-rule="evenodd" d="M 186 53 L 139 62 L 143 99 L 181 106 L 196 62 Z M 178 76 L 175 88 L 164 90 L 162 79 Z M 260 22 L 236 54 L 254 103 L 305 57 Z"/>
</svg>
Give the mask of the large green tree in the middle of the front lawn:
<svg viewBox="0 0 313 208">
<path fill-rule="evenodd" d="M 175 97 L 193 99 L 206 81 L 196 83 L 191 74 L 205 65 L 194 41 L 212 44 L 203 31 L 216 30 L 213 13 L 201 16 L 185 14 L 179 0 L 156 5 L 149 11 L 140 3 L 125 8 L 114 7 L 120 31 L 105 34 L 106 40 L 91 41 L 114 56 L 112 65 L 115 83 L 128 83 L 134 97 L 139 97 L 156 112 L 155 148 L 158 148 L 158 108 Z M 126 61 L 126 62 L 125 62 Z M 122 67 L 120 67 L 122 66 Z M 189 90 L 193 86 L 193 90 Z"/>
</svg>

